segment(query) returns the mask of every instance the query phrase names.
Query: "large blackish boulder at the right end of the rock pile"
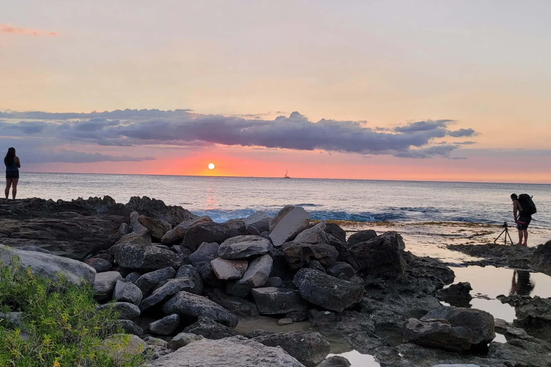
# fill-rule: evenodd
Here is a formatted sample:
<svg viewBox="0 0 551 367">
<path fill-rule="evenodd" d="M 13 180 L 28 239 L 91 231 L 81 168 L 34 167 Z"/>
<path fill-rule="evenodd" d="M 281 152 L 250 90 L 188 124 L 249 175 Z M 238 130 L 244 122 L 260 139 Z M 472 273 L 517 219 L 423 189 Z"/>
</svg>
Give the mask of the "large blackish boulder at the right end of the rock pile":
<svg viewBox="0 0 551 367">
<path fill-rule="evenodd" d="M 372 276 L 403 275 L 407 265 L 397 246 L 381 237 L 357 243 L 348 250 L 358 270 L 364 270 Z"/>
</svg>

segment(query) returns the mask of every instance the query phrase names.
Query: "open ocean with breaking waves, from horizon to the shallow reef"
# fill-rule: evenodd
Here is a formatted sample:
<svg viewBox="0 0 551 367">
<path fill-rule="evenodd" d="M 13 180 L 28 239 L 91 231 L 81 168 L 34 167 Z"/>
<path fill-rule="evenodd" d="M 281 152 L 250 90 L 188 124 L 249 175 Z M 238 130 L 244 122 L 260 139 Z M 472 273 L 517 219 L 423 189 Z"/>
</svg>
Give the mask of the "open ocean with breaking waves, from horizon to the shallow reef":
<svg viewBox="0 0 551 367">
<path fill-rule="evenodd" d="M 512 222 L 511 193 L 533 195 L 533 226 L 551 229 L 551 185 L 21 172 L 19 198 L 149 196 L 218 222 L 303 206 L 314 219 Z"/>
</svg>

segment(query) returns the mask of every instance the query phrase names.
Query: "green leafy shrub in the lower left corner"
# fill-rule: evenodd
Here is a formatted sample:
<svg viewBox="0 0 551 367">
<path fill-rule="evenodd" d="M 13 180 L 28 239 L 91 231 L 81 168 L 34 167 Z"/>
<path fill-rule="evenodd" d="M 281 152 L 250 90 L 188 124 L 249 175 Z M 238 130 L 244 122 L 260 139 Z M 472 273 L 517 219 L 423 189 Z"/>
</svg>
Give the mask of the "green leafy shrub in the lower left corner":
<svg viewBox="0 0 551 367">
<path fill-rule="evenodd" d="M 143 355 L 126 355 L 130 336 L 98 348 L 102 340 L 123 331 L 117 315 L 108 308 L 96 311 L 93 288 L 34 275 L 0 264 L 0 313 L 21 312 L 21 322 L 0 316 L 0 367 L 134 367 Z M 110 355 L 125 354 L 116 363 Z"/>
</svg>

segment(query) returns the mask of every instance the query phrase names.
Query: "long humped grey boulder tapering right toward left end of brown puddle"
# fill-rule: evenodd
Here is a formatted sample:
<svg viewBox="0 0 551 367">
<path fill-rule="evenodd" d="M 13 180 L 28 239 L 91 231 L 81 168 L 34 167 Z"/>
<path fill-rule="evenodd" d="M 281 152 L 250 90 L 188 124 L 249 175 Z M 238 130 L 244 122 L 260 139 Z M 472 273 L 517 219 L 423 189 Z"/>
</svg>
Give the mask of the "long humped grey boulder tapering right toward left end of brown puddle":
<svg viewBox="0 0 551 367">
<path fill-rule="evenodd" d="M 237 316 L 230 311 L 206 297 L 185 291 L 177 293 L 166 301 L 163 305 L 163 312 L 166 315 L 180 315 L 184 324 L 188 325 L 197 321 L 199 316 L 207 316 L 209 319 L 229 327 L 237 325 Z"/>
</svg>

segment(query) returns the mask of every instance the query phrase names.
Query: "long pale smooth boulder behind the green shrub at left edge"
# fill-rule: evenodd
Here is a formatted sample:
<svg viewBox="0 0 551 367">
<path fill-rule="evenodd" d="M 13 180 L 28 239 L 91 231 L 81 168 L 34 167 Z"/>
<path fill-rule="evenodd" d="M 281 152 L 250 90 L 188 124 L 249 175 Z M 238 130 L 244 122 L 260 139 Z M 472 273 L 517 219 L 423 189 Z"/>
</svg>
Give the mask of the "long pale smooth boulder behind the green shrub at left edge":
<svg viewBox="0 0 551 367">
<path fill-rule="evenodd" d="M 0 262 L 4 266 L 12 266 L 13 256 L 19 256 L 19 271 L 26 271 L 26 267 L 30 266 L 34 274 L 52 280 L 58 280 L 57 275 L 64 272 L 69 283 L 80 285 L 87 281 L 94 286 L 96 271 L 84 262 L 37 251 L 7 248 L 0 244 Z"/>
</svg>

